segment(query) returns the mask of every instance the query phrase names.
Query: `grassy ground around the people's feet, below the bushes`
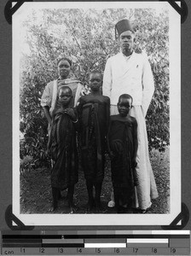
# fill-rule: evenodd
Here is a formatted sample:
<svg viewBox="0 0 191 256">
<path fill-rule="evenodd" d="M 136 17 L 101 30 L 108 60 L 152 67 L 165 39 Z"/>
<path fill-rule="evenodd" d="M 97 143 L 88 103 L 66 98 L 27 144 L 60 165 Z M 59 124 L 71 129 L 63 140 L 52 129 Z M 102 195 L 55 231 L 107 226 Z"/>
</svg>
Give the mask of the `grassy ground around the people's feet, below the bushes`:
<svg viewBox="0 0 191 256">
<path fill-rule="evenodd" d="M 168 213 L 170 212 L 170 160 L 169 148 L 165 153 L 153 150 L 151 153 L 151 164 L 156 180 L 159 197 L 153 200 L 152 207 L 148 213 Z M 50 187 L 50 170 L 36 169 L 28 172 L 25 177 L 20 176 L 20 213 L 49 213 L 52 195 Z M 101 213 L 114 213 L 114 209 L 107 207 L 110 201 L 110 191 L 112 188 L 109 161 L 107 160 L 105 178 L 101 191 Z M 63 193 L 64 194 L 64 193 Z M 85 187 L 84 173 L 79 171 L 79 180 L 75 187 L 74 202 L 78 207 L 75 213 L 87 213 L 86 203 L 88 201 L 87 189 Z M 69 213 L 66 200 L 59 201 L 59 207 L 55 213 Z M 94 213 L 92 211 L 92 213 Z"/>
</svg>

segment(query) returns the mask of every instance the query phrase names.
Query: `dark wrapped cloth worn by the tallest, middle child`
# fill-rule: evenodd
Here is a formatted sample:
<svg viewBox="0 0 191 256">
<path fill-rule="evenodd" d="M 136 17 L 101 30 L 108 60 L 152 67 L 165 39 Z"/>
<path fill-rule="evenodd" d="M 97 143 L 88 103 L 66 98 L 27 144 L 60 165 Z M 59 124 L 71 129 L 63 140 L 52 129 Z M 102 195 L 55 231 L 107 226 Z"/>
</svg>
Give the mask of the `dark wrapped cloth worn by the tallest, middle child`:
<svg viewBox="0 0 191 256">
<path fill-rule="evenodd" d="M 104 177 L 105 142 L 110 100 L 107 96 L 82 96 L 79 100 L 80 148 L 85 179 L 101 182 Z"/>
</svg>

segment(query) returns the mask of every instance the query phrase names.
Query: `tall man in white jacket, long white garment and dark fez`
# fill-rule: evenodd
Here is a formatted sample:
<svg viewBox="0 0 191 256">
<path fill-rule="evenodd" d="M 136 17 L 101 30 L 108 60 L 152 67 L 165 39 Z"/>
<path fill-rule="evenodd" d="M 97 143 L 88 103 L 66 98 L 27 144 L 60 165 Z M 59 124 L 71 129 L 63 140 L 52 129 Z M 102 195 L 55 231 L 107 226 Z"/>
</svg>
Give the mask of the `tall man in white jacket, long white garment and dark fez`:
<svg viewBox="0 0 191 256">
<path fill-rule="evenodd" d="M 111 100 L 111 114 L 117 114 L 119 96 L 124 93 L 133 97 L 133 107 L 130 115 L 138 123 L 138 152 L 136 157 L 136 172 L 139 185 L 136 187 L 135 207 L 146 212 L 151 207 L 151 199 L 158 197 L 153 170 L 148 155 L 148 135 L 145 116 L 152 100 L 154 83 L 148 58 L 143 54 L 136 54 L 133 50 L 135 32 L 129 20 L 120 20 L 115 30 L 119 35 L 121 51 L 108 58 L 104 77 L 103 95 Z"/>
</svg>

